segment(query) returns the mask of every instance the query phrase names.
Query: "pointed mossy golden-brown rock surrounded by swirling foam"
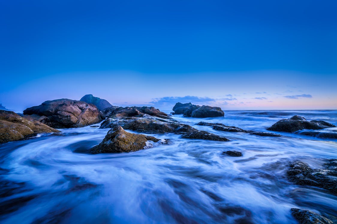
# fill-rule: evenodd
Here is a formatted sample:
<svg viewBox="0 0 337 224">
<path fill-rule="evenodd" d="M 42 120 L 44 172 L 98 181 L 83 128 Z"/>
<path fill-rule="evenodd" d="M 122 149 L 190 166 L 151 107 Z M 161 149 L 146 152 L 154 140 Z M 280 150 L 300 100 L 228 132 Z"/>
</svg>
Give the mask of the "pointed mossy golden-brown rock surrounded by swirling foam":
<svg viewBox="0 0 337 224">
<path fill-rule="evenodd" d="M 152 136 L 142 134 L 132 134 L 126 132 L 121 126 L 111 129 L 99 145 L 90 149 L 91 153 L 111 153 L 111 152 L 131 152 L 138 151 L 152 146 L 151 142 L 162 141 Z"/>
</svg>

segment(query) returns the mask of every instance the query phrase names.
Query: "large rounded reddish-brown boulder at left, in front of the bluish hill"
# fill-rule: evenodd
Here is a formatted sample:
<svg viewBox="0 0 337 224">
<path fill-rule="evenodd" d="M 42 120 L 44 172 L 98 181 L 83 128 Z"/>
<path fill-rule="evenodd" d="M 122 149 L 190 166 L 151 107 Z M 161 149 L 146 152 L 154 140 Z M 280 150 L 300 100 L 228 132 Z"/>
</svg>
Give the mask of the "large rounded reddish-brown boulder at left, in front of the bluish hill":
<svg viewBox="0 0 337 224">
<path fill-rule="evenodd" d="M 102 120 L 95 105 L 71 99 L 48 100 L 25 109 L 23 114 L 48 117 L 48 124 L 53 128 L 77 128 Z"/>
</svg>

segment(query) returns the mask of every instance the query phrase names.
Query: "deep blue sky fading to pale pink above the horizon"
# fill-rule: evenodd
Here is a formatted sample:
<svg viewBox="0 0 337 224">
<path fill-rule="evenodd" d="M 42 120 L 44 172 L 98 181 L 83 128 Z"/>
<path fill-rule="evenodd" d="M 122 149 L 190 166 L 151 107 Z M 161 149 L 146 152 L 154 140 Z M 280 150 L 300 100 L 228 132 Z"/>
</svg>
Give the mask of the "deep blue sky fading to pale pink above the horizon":
<svg viewBox="0 0 337 224">
<path fill-rule="evenodd" d="M 337 1 L 1 1 L 0 103 L 337 109 Z"/>
</svg>

